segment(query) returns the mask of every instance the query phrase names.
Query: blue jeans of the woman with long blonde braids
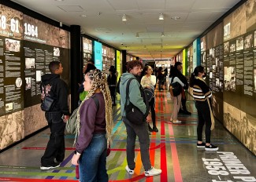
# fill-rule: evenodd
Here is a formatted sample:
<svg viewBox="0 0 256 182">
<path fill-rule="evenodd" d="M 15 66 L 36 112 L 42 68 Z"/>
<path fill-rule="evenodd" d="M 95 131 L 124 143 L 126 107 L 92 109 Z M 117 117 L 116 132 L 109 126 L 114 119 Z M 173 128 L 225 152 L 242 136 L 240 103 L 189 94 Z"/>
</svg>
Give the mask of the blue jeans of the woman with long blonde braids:
<svg viewBox="0 0 256 182">
<path fill-rule="evenodd" d="M 94 134 L 91 143 L 79 159 L 81 182 L 109 181 L 106 173 L 106 134 Z"/>
</svg>

